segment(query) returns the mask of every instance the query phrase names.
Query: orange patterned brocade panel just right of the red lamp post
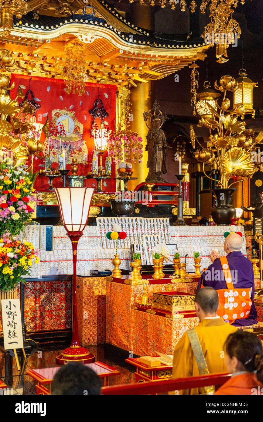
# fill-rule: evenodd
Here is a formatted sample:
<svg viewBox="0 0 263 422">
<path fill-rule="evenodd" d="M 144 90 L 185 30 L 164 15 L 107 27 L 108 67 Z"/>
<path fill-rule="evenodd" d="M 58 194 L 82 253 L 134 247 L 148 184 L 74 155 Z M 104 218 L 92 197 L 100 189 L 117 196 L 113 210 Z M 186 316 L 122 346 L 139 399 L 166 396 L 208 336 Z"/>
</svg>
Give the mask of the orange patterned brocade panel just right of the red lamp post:
<svg viewBox="0 0 263 422">
<path fill-rule="evenodd" d="M 77 277 L 79 340 L 83 345 L 106 340 L 106 277 Z"/>
</svg>

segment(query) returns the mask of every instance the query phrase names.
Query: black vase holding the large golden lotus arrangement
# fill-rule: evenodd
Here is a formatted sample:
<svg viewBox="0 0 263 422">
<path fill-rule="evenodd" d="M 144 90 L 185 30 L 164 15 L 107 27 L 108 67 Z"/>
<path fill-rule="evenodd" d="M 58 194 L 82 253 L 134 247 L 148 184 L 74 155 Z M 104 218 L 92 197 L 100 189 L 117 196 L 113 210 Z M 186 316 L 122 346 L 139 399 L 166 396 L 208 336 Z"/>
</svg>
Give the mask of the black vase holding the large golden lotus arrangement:
<svg viewBox="0 0 263 422">
<path fill-rule="evenodd" d="M 236 217 L 236 208 L 230 205 L 231 197 L 236 189 L 213 189 L 217 197 L 217 206 L 211 209 L 211 216 L 218 226 L 231 224 L 230 218 Z"/>
</svg>

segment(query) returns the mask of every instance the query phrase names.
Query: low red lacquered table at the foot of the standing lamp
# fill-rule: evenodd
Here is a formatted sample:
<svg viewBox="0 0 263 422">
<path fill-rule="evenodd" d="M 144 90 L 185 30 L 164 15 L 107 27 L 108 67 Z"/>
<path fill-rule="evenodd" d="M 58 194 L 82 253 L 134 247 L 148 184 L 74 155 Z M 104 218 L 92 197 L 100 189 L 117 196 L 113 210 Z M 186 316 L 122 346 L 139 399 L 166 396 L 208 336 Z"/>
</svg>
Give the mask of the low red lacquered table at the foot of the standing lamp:
<svg viewBox="0 0 263 422">
<path fill-rule="evenodd" d="M 85 366 L 88 366 L 90 369 L 95 371 L 97 375 L 102 379 L 103 386 L 108 385 L 108 377 L 112 375 L 118 375 L 119 371 L 113 366 L 106 365 L 99 360 L 94 363 L 87 363 Z M 49 395 L 52 380 L 56 372 L 60 369 L 60 366 L 55 366 L 54 368 L 42 368 L 42 369 L 28 369 L 27 375 L 32 376 L 33 379 L 37 381 L 37 394 Z"/>
</svg>

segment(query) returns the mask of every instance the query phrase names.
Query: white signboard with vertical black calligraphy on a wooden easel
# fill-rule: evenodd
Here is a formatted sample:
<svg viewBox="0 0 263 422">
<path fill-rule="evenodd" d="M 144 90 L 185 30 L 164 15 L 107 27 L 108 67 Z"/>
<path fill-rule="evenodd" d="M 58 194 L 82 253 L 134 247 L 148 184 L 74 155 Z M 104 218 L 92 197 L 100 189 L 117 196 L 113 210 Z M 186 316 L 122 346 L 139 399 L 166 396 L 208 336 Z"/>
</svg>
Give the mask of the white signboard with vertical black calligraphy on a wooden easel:
<svg viewBox="0 0 263 422">
<path fill-rule="evenodd" d="M 19 299 L 2 299 L 4 348 L 22 349 L 23 333 Z"/>
</svg>

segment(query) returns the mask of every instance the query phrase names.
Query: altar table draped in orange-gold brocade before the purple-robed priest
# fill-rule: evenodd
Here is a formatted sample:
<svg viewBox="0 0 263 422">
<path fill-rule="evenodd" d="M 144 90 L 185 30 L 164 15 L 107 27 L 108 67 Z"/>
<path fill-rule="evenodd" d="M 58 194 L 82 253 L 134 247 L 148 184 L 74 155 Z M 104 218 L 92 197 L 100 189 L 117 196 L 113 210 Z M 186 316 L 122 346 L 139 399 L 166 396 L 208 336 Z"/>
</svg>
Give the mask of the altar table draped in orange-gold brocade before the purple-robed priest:
<svg viewBox="0 0 263 422">
<path fill-rule="evenodd" d="M 171 284 L 177 292 L 195 294 L 199 281 L 199 277 L 189 277 L 171 283 L 168 277 L 154 280 L 152 276 L 143 276 L 141 282 L 145 279 L 149 280 L 150 300 L 154 292 L 165 292 L 165 286 Z M 141 306 L 143 286 L 127 284 L 129 282 L 125 276 L 122 279 L 107 277 L 106 343 L 137 355 L 153 355 L 155 350 L 172 354 L 182 334 L 198 324 L 195 312 L 174 314 Z"/>
</svg>

